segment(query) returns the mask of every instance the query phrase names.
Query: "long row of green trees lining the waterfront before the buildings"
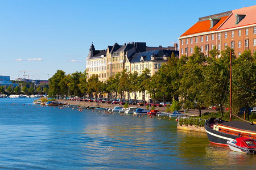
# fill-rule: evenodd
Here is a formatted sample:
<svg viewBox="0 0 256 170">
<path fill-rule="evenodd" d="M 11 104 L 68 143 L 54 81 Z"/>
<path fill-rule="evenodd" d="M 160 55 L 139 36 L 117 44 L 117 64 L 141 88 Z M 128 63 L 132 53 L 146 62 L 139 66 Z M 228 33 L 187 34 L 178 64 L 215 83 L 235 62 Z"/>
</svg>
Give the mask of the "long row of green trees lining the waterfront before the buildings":
<svg viewBox="0 0 256 170">
<path fill-rule="evenodd" d="M 221 111 L 229 106 L 229 63 L 230 51 L 233 59 L 233 109 L 238 113 L 240 108 L 256 105 L 256 53 L 251 55 L 245 50 L 240 57 L 234 55 L 233 49 L 226 48 L 221 57 L 216 47 L 205 57 L 198 46 L 190 57 L 176 58 L 172 54 L 168 62 L 150 76 L 150 70 L 145 69 L 139 75 L 137 72 L 121 73 L 111 76 L 106 83 L 98 80 L 97 75 L 87 78 L 87 73 L 66 75 L 64 71 L 49 79 L 49 95 L 51 96 L 85 96 L 88 94 L 108 94 L 108 97 L 118 95 L 129 100 L 131 92 L 142 92 L 145 101 L 145 92 L 151 98 L 179 100 L 184 108 L 210 107 L 216 105 Z"/>
</svg>

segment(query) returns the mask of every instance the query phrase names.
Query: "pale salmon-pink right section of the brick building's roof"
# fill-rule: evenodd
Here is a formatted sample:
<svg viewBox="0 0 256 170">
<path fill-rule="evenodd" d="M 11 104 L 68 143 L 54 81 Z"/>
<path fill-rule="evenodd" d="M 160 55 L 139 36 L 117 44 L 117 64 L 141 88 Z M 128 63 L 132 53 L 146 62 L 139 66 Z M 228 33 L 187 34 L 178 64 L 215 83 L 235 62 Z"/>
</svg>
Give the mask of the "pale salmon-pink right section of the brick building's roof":
<svg viewBox="0 0 256 170">
<path fill-rule="evenodd" d="M 245 15 L 245 18 L 236 24 L 236 15 Z M 256 5 L 233 10 L 229 18 L 218 28 L 218 30 L 242 27 L 256 24 Z"/>
</svg>

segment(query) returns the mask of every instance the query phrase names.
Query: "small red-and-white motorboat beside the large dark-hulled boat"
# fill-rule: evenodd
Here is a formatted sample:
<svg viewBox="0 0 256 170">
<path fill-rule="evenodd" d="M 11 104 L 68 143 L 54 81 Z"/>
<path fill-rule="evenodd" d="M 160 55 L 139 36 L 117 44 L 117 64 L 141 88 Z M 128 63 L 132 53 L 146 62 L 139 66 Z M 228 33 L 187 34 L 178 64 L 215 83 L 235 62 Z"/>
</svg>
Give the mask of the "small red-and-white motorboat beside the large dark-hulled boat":
<svg viewBox="0 0 256 170">
<path fill-rule="evenodd" d="M 226 143 L 228 143 L 228 146 L 232 151 L 246 154 L 256 154 L 256 142 L 254 139 L 240 137 Z"/>
</svg>

